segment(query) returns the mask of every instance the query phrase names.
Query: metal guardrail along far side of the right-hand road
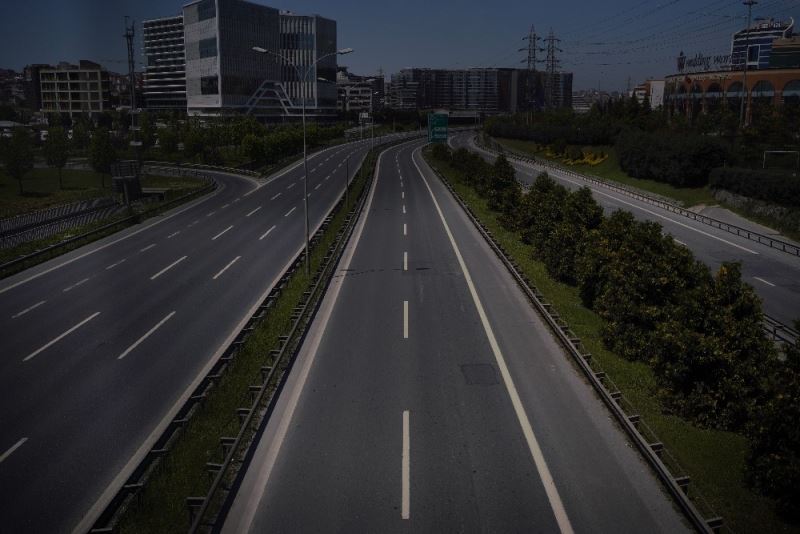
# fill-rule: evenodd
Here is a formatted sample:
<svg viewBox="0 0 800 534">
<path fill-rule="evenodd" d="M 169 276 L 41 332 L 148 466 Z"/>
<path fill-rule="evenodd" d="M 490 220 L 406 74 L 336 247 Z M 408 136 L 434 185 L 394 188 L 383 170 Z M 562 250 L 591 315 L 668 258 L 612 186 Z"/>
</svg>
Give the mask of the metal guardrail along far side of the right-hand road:
<svg viewBox="0 0 800 534">
<path fill-rule="evenodd" d="M 490 151 L 490 152 L 495 152 L 495 153 L 507 154 L 507 155 L 510 155 L 513 159 L 516 159 L 516 160 L 519 160 L 519 161 L 523 161 L 523 162 L 531 164 L 531 165 L 537 165 L 539 167 L 545 167 L 545 168 L 552 169 L 552 170 L 555 170 L 555 171 L 558 171 L 558 172 L 562 172 L 562 173 L 564 173 L 564 174 L 566 174 L 568 176 L 571 176 L 573 178 L 577 178 L 579 180 L 583 180 L 585 182 L 589 182 L 589 183 L 592 183 L 592 184 L 595 184 L 595 185 L 600 185 L 602 187 L 605 187 L 606 189 L 611 189 L 612 191 L 616 191 L 618 193 L 622 193 L 625 196 L 628 196 L 630 198 L 633 198 L 633 199 L 636 199 L 636 200 L 639 200 L 639 201 L 642 201 L 642 202 L 647 202 L 648 204 L 651 204 L 653 206 L 657 206 L 657 207 L 662 208 L 664 210 L 667 210 L 667 211 L 669 211 L 671 213 L 675 213 L 675 214 L 681 215 L 683 217 L 686 217 L 688 219 L 692 219 L 694 221 L 697 221 L 697 222 L 700 222 L 702 224 L 711 226 L 713 228 L 718 228 L 718 229 L 723 230 L 725 232 L 728 232 L 730 234 L 734 234 L 734 235 L 737 235 L 739 237 L 743 237 L 745 239 L 748 239 L 750 241 L 754 241 L 756 243 L 760 243 L 762 245 L 766 245 L 766 246 L 768 246 L 770 248 L 773 248 L 775 250 L 779 250 L 781 252 L 785 252 L 786 254 L 790 254 L 792 256 L 800 257 L 800 246 L 795 245 L 793 243 L 789 243 L 789 242 L 783 241 L 781 239 L 775 239 L 775 238 L 772 238 L 770 236 L 767 236 L 767 235 L 764 235 L 764 234 L 760 234 L 758 232 L 753 232 L 752 230 L 748 230 L 746 228 L 742 228 L 741 226 L 736 226 L 735 224 L 729 224 L 729 223 L 720 221 L 719 219 L 714 219 L 713 217 L 708 217 L 706 215 L 701 215 L 699 213 L 695 213 L 695 212 L 693 212 L 691 210 L 687 210 L 686 208 L 682 208 L 680 206 L 672 204 L 671 202 L 667 202 L 667 201 L 655 198 L 655 197 L 650 196 L 650 195 L 645 195 L 645 194 L 643 194 L 643 193 L 641 193 L 639 191 L 636 191 L 634 189 L 631 189 L 631 188 L 628 188 L 628 187 L 625 187 L 625 186 L 622 186 L 622 185 L 613 184 L 613 183 L 609 182 L 608 180 L 604 180 L 604 179 L 602 179 L 602 178 L 600 178 L 598 176 L 589 176 L 589 175 L 586 175 L 586 174 L 577 173 L 577 172 L 572 171 L 570 169 L 567 169 L 567 168 L 565 168 L 565 167 L 563 167 L 561 165 L 557 165 L 557 164 L 555 164 L 555 163 L 553 163 L 551 161 L 537 160 L 537 159 L 531 158 L 531 157 L 529 157 L 529 156 L 527 156 L 525 154 L 521 154 L 521 153 L 519 153 L 519 152 L 517 152 L 515 150 L 511 150 L 511 149 L 508 149 L 506 147 L 503 147 L 502 145 L 500 145 L 499 143 L 497 143 L 494 140 L 492 140 L 492 143 L 494 145 L 493 147 L 492 146 L 488 146 L 488 145 L 482 143 L 481 141 L 478 141 L 478 145 L 481 148 L 483 148 L 484 150 L 487 150 L 487 151 Z"/>
</svg>

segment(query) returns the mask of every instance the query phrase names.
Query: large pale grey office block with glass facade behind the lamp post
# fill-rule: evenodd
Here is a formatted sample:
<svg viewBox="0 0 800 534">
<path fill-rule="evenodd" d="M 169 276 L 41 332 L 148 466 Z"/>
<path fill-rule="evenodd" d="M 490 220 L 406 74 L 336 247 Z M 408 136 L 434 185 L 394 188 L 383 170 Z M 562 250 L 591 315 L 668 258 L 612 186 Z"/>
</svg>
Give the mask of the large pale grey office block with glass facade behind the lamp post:
<svg viewBox="0 0 800 534">
<path fill-rule="evenodd" d="M 305 103 L 310 117 L 335 116 L 335 21 L 245 0 L 197 0 L 184 6 L 183 23 L 190 115 L 284 120 L 299 118 Z"/>
</svg>

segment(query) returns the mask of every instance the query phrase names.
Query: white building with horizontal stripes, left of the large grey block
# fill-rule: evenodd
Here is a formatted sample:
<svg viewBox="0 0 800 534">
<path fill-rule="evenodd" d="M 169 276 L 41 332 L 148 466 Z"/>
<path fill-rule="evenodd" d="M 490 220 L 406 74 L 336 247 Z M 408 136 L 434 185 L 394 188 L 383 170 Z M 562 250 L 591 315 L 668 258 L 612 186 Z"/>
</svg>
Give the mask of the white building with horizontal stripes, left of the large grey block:
<svg viewBox="0 0 800 534">
<path fill-rule="evenodd" d="M 186 111 L 186 49 L 183 14 L 142 22 L 144 99 L 151 110 Z"/>
</svg>

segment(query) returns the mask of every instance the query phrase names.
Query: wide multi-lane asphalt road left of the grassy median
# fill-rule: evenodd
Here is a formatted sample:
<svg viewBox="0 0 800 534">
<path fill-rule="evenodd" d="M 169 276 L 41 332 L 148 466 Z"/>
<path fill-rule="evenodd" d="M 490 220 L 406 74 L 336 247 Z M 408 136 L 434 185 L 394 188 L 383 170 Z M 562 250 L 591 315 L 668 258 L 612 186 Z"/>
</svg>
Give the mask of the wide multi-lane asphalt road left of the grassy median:
<svg viewBox="0 0 800 534">
<path fill-rule="evenodd" d="M 368 148 L 310 159 L 312 232 Z M 0 531 L 99 512 L 300 251 L 302 165 L 209 174 L 215 194 L 0 281 Z"/>
</svg>

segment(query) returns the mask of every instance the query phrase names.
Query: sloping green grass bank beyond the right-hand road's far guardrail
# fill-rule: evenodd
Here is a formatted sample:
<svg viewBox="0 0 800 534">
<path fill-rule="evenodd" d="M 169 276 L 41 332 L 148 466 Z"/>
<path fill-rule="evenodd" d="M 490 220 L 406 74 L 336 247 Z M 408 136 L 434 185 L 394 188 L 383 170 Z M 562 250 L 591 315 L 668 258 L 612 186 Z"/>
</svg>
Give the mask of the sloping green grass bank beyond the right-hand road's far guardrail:
<svg viewBox="0 0 800 534">
<path fill-rule="evenodd" d="M 537 150 L 538 145 L 533 141 L 502 138 L 497 138 L 496 141 L 512 150 L 525 152 L 535 156 L 536 158 L 548 159 L 563 165 L 563 162 L 560 159 L 548 158 L 545 156 L 543 150 Z M 656 195 L 675 200 L 684 207 L 696 206 L 698 204 L 718 204 L 717 200 L 714 198 L 714 195 L 711 193 L 711 190 L 707 186 L 674 187 L 662 182 L 656 182 L 655 180 L 642 180 L 639 178 L 633 178 L 628 176 L 622 169 L 620 169 L 619 160 L 617 159 L 617 153 L 614 150 L 614 147 L 599 146 L 586 148 L 593 150 L 594 152 L 600 152 L 602 150 L 608 154 L 608 159 L 595 166 L 586 164 L 570 165 L 568 166 L 570 169 L 582 174 L 594 174 L 609 181 L 617 182 L 629 187 L 635 187 L 636 189 L 640 189 L 645 192 L 654 193 Z"/>
</svg>

